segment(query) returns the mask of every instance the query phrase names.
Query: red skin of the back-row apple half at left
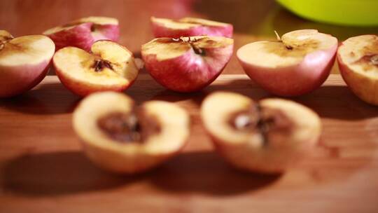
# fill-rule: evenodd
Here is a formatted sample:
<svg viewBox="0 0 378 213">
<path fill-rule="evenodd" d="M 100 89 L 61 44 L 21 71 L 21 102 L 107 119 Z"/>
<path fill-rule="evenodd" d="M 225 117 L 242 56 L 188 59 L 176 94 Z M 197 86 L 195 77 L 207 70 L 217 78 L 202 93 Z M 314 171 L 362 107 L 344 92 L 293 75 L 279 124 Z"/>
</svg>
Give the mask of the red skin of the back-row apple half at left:
<svg viewBox="0 0 378 213">
<path fill-rule="evenodd" d="M 92 44 L 99 40 L 111 40 L 118 41 L 120 37 L 120 29 L 118 25 L 101 25 L 97 27 L 99 32 L 102 32 L 102 36 L 92 36 L 91 27 L 93 23 L 87 22 L 80 25 L 76 25 L 71 29 L 62 30 L 55 34 L 49 34 L 48 36 L 54 41 L 56 50 L 64 48 L 66 46 L 74 46 L 86 51 L 90 51 Z"/>
</svg>

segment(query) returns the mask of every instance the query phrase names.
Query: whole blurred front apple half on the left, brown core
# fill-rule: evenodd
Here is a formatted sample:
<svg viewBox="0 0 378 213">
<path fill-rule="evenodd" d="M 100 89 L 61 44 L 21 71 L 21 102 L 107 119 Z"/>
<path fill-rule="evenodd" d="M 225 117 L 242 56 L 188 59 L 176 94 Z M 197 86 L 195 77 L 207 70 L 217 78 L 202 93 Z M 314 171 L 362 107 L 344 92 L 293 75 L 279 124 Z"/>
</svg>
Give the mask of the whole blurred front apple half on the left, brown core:
<svg viewBox="0 0 378 213">
<path fill-rule="evenodd" d="M 97 92 L 73 112 L 73 128 L 85 154 L 106 170 L 137 173 L 179 153 L 189 136 L 189 116 L 175 104 L 134 101 L 118 92 Z"/>
</svg>

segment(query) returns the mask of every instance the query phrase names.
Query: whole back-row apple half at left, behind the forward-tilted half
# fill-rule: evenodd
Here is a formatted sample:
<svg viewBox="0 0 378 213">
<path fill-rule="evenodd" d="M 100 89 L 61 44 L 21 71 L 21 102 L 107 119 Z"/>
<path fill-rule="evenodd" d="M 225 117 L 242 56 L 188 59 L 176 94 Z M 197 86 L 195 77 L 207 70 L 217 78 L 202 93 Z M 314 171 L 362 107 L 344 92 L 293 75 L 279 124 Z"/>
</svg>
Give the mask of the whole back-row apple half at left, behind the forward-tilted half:
<svg viewBox="0 0 378 213">
<path fill-rule="evenodd" d="M 55 42 L 57 50 L 66 46 L 75 46 L 89 51 L 96 41 L 118 41 L 120 29 L 115 18 L 91 16 L 53 27 L 43 34 Z"/>
</svg>

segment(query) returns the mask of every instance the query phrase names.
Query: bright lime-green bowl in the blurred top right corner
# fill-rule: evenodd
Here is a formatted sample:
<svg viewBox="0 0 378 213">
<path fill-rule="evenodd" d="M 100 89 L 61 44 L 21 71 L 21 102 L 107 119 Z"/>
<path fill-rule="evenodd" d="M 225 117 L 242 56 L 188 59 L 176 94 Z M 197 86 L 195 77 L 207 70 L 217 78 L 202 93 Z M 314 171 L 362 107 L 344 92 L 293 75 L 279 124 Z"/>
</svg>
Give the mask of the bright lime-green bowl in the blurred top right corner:
<svg viewBox="0 0 378 213">
<path fill-rule="evenodd" d="M 318 22 L 377 26 L 378 0 L 276 0 L 289 11 Z"/>
</svg>

